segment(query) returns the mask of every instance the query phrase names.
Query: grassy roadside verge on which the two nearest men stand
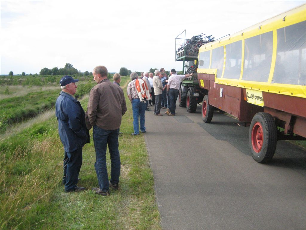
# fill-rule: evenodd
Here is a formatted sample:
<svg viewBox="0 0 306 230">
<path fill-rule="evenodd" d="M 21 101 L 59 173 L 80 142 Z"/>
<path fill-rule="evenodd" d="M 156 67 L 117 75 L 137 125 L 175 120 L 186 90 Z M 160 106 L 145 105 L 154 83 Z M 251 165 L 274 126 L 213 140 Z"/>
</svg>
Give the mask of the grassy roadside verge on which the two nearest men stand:
<svg viewBox="0 0 306 230">
<path fill-rule="evenodd" d="M 121 85 L 128 81 L 123 77 Z M 80 101 L 86 110 L 88 96 Z M 161 229 L 144 136 L 130 135 L 132 110 L 127 106 L 119 137 L 120 189 L 108 197 L 90 190 L 97 186 L 92 138 L 83 148 L 79 182 L 88 190 L 64 192 L 54 110 L 9 127 L 0 143 L 0 229 Z"/>
</svg>

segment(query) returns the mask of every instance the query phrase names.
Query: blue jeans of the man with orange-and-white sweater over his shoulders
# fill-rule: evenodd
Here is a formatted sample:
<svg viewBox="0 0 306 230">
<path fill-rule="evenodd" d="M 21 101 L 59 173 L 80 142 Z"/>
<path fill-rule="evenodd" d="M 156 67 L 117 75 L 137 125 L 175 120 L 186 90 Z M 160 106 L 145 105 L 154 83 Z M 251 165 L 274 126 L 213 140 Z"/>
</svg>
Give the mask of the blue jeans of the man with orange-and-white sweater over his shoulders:
<svg viewBox="0 0 306 230">
<path fill-rule="evenodd" d="M 140 99 L 132 99 L 132 109 L 133 109 L 133 127 L 134 133 L 139 134 L 139 124 L 138 117 L 140 120 L 140 130 L 141 132 L 146 131 L 146 127 L 144 127 L 144 111 L 146 109 L 146 104 L 140 102 Z"/>
</svg>

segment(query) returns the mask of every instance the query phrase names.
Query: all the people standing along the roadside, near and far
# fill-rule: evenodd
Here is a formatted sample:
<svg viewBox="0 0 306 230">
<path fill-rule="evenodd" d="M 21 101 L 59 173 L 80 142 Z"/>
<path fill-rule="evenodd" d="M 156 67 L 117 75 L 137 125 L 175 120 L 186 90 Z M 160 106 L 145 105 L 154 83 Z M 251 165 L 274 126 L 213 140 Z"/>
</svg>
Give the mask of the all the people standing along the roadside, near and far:
<svg viewBox="0 0 306 230">
<path fill-rule="evenodd" d="M 125 97 L 120 87 L 121 76 L 116 73 L 114 82 L 107 78 L 107 69 L 97 66 L 92 71 L 93 80 L 97 83 L 89 94 L 87 112 L 84 112 L 80 102 L 73 96 L 76 93 L 76 82 L 71 76 L 60 80 L 61 93 L 55 104 L 55 115 L 58 120 L 58 133 L 64 146 L 64 176 L 63 184 L 66 192 L 82 191 L 84 187 L 77 186 L 80 168 L 82 166 L 82 150 L 89 143 L 89 130 L 93 129 L 95 146 L 95 171 L 98 187 L 92 188 L 95 194 L 108 196 L 110 188 L 118 190 L 121 161 L 119 154 L 118 135 L 121 117 L 127 111 Z M 155 116 L 162 116 L 161 108 L 167 108 L 168 115 L 175 115 L 175 104 L 181 79 L 191 75 L 177 75 L 174 69 L 168 78 L 165 69 L 153 73 L 144 72 L 139 78 L 136 72 L 130 74 L 131 82 L 127 86 L 127 95 L 132 103 L 133 136 L 140 131 L 146 132 L 145 111 L 148 104 L 154 105 Z M 110 180 L 106 168 L 106 148 L 109 148 L 111 171 Z"/>
</svg>

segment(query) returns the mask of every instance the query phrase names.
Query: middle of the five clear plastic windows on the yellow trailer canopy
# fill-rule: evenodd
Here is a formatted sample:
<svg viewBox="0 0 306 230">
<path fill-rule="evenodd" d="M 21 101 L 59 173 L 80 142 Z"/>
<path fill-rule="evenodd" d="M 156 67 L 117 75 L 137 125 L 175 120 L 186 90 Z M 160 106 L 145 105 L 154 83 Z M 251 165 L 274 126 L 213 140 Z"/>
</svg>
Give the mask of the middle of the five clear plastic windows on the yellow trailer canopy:
<svg viewBox="0 0 306 230">
<path fill-rule="evenodd" d="M 225 46 L 226 58 L 223 78 L 239 79 L 241 73 L 242 41 Z"/>
</svg>

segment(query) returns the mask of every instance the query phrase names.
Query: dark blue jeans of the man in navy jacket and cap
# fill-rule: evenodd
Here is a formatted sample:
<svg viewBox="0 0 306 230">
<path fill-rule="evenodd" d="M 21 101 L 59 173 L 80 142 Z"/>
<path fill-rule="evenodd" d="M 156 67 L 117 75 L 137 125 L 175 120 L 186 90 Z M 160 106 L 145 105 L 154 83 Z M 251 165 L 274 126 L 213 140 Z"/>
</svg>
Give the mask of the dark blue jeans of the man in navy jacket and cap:
<svg viewBox="0 0 306 230">
<path fill-rule="evenodd" d="M 76 184 L 77 179 L 79 177 L 80 169 L 82 166 L 82 149 L 79 148 L 73 152 L 66 152 L 64 156 L 64 177 L 63 184 L 65 185 L 65 191 L 73 191 Z"/>
</svg>

